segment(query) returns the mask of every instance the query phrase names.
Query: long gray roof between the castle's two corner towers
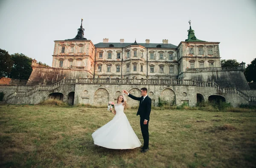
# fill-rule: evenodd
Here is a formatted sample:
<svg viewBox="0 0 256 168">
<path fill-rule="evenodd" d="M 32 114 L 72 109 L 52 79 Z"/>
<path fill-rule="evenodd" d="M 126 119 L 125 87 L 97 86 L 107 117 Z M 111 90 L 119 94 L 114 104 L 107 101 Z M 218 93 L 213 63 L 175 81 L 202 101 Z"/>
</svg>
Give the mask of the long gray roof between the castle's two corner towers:
<svg viewBox="0 0 256 168">
<path fill-rule="evenodd" d="M 119 48 L 119 47 L 127 47 L 132 45 L 133 43 L 97 43 L 94 44 L 96 47 L 109 47 L 110 44 L 113 44 L 111 48 Z M 163 44 L 163 43 L 138 43 L 140 46 L 144 46 L 146 48 L 177 48 L 177 46 L 173 44 Z M 157 47 L 157 45 L 161 45 L 161 47 Z"/>
</svg>

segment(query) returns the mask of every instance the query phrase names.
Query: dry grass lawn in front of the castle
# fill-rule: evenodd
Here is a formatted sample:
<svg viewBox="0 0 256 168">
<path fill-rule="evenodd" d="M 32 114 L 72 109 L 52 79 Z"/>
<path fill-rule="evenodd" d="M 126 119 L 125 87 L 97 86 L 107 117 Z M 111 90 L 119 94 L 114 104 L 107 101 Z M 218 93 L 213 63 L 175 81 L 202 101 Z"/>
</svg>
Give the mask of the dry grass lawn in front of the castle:
<svg viewBox="0 0 256 168">
<path fill-rule="evenodd" d="M 137 110 L 126 116 L 143 143 Z M 149 148 L 111 150 L 91 134 L 113 118 L 106 109 L 0 106 L 1 167 L 256 166 L 256 113 L 152 110 Z"/>
</svg>

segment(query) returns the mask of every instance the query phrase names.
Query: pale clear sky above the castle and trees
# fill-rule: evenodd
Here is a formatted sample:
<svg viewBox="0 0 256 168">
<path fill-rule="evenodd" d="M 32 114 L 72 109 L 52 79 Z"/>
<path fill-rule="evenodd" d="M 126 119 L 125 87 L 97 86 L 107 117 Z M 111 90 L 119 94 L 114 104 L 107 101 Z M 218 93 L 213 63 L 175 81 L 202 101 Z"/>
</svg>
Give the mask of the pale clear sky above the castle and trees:
<svg viewBox="0 0 256 168">
<path fill-rule="evenodd" d="M 55 40 L 169 43 L 195 36 L 220 42 L 221 59 L 256 58 L 256 0 L 0 0 L 0 48 L 52 65 Z"/>
</svg>

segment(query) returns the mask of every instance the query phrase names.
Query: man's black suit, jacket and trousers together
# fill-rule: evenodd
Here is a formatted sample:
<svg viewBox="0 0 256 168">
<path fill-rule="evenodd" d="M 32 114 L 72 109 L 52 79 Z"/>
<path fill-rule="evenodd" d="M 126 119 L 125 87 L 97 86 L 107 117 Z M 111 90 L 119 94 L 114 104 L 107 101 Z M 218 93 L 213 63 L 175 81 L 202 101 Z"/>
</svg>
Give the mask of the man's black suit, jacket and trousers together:
<svg viewBox="0 0 256 168">
<path fill-rule="evenodd" d="M 140 101 L 140 106 L 137 112 L 137 116 L 140 115 L 140 129 L 144 139 L 143 149 L 148 149 L 148 142 L 149 142 L 148 122 L 149 122 L 149 115 L 151 112 L 151 98 L 146 96 L 143 100 L 143 96 L 135 97 L 131 94 L 129 94 L 128 96 L 134 100 Z M 144 125 L 145 119 L 148 120 L 146 125 Z"/>
</svg>

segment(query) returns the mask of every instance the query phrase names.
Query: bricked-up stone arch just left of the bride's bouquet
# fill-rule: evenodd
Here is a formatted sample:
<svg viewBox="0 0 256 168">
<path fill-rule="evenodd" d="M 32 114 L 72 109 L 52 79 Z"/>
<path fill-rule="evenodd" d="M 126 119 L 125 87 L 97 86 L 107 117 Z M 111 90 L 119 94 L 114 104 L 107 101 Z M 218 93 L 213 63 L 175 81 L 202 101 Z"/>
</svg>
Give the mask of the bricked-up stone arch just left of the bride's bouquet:
<svg viewBox="0 0 256 168">
<path fill-rule="evenodd" d="M 98 90 L 96 90 L 95 94 L 94 94 L 94 105 L 100 105 L 100 104 L 106 104 L 106 106 L 108 105 L 109 102 L 109 93 L 108 90 L 104 89 L 104 88 L 99 88 Z"/>
</svg>

